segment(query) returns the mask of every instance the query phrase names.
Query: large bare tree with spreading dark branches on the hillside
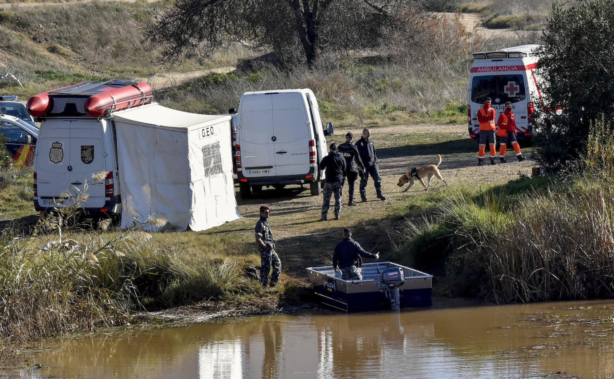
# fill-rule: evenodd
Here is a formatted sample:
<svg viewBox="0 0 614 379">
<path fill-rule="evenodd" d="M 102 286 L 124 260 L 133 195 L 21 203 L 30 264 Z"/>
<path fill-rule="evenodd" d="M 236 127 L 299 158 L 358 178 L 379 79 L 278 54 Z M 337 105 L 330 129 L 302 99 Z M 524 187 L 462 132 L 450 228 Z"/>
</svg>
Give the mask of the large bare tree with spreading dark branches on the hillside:
<svg viewBox="0 0 614 379">
<path fill-rule="evenodd" d="M 210 57 L 231 42 L 313 67 L 325 53 L 375 48 L 416 0 L 175 0 L 145 31 L 157 63 Z"/>
</svg>

